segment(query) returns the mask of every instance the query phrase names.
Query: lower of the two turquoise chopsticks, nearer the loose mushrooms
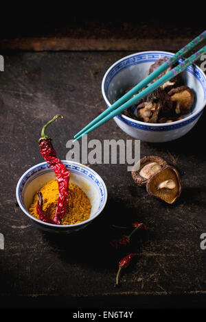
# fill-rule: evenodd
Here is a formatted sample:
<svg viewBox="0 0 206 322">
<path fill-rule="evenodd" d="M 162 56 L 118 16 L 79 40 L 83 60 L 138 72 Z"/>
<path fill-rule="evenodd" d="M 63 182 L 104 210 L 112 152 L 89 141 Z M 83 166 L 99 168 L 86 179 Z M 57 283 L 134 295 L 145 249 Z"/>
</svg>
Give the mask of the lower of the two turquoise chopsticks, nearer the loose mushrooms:
<svg viewBox="0 0 206 322">
<path fill-rule="evenodd" d="M 206 53 L 206 46 L 200 49 L 199 51 L 196 51 L 196 53 L 191 55 L 190 58 L 187 58 L 186 60 L 181 62 L 178 66 L 174 67 L 174 69 L 163 75 L 161 78 L 157 79 L 155 83 L 150 84 L 150 86 L 139 92 L 139 94 L 137 94 L 135 97 L 133 97 L 129 101 L 126 101 L 126 103 L 122 104 L 122 106 L 120 106 L 116 110 L 113 110 L 113 112 L 105 116 L 104 119 L 100 120 L 98 123 L 95 123 L 95 125 L 89 127 L 89 129 L 87 129 L 83 134 L 80 134 L 80 136 L 76 137 L 75 140 L 73 140 L 73 142 L 79 140 L 84 134 L 88 134 L 89 132 L 93 131 L 93 129 L 97 129 L 106 121 L 113 119 L 114 116 L 122 113 L 124 110 L 126 110 L 126 108 L 133 106 L 133 104 L 135 104 L 140 99 L 146 97 L 146 95 L 150 94 L 150 92 L 153 92 L 161 85 L 163 85 L 165 82 L 168 82 L 168 80 L 172 79 L 174 76 L 178 75 L 182 71 L 185 71 L 185 69 L 187 69 L 188 66 L 196 62 L 196 60 L 198 60 L 199 58 L 201 58 L 201 55 L 203 55 L 203 53 Z"/>
</svg>

